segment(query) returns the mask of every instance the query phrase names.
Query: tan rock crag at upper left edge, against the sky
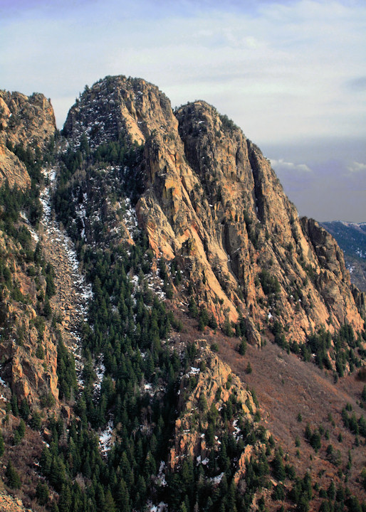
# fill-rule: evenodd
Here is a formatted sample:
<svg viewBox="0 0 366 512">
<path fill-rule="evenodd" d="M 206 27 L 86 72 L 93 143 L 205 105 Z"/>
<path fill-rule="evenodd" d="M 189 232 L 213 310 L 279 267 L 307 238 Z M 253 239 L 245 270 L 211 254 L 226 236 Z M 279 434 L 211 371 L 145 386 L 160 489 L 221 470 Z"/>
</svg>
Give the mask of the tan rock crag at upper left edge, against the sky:
<svg viewBox="0 0 366 512">
<path fill-rule="evenodd" d="M 30 154 L 36 148 L 44 150 L 55 130 L 53 108 L 46 97 L 0 90 L 0 183 L 7 179 L 11 188 L 28 188 L 31 179 L 26 166 L 9 148 L 21 144 Z"/>
</svg>

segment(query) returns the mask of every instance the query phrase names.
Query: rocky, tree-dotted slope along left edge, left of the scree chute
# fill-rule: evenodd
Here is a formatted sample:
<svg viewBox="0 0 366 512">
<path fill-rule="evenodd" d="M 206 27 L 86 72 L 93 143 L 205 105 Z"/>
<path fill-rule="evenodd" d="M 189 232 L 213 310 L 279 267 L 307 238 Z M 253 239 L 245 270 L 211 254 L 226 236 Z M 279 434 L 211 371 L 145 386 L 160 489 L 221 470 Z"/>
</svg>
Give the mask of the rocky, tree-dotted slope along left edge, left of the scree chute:
<svg viewBox="0 0 366 512">
<path fill-rule="evenodd" d="M 0 474 L 17 496 L 1 494 L 0 508 L 25 510 L 22 500 L 39 511 L 50 494 L 38 469 L 49 421 L 68 418 L 66 395 L 76 387 L 58 324 L 64 315 L 54 309 L 55 272 L 43 250 L 40 196 L 48 188 L 56 125 L 43 95 L 1 92 L 0 103 Z"/>
</svg>

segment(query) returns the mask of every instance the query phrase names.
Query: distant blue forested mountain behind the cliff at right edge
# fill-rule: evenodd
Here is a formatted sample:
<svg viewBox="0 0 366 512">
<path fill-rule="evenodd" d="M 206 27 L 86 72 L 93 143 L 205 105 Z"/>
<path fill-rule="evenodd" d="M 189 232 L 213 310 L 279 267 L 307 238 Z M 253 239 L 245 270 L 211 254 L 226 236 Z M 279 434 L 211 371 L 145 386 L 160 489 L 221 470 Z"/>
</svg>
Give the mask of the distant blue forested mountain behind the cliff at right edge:
<svg viewBox="0 0 366 512">
<path fill-rule="evenodd" d="M 351 282 L 366 292 L 366 223 L 346 223 L 340 220 L 322 223 L 337 240 L 345 253 L 345 263 Z"/>
</svg>

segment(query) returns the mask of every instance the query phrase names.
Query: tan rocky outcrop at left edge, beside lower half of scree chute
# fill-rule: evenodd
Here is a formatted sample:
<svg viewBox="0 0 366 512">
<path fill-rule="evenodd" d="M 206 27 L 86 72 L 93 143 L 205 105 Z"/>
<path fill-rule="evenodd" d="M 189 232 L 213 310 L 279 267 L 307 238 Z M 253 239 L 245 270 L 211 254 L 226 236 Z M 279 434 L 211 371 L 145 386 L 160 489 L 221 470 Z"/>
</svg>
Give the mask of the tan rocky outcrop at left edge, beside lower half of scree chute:
<svg viewBox="0 0 366 512">
<path fill-rule="evenodd" d="M 1 291 L 1 378 L 19 404 L 26 400 L 31 410 L 58 407 L 56 338 L 36 312 L 46 279 L 41 269 L 34 272 L 35 267 L 24 262 L 21 246 L 2 232 L 0 247 L 11 273 Z"/>
</svg>

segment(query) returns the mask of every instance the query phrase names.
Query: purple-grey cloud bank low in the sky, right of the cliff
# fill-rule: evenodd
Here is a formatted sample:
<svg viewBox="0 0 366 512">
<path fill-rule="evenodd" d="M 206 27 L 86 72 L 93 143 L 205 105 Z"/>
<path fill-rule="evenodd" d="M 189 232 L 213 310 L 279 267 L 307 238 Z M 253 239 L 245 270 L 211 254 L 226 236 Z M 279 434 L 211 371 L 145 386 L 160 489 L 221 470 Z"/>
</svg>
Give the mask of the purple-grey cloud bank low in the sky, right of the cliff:
<svg viewBox="0 0 366 512">
<path fill-rule="evenodd" d="M 300 215 L 365 222 L 366 164 L 352 159 L 365 156 L 365 141 L 308 140 L 299 146 L 273 145 L 268 154 L 276 156 L 271 158 L 273 169 Z M 308 161 L 288 158 L 296 154 L 308 155 Z"/>
</svg>

